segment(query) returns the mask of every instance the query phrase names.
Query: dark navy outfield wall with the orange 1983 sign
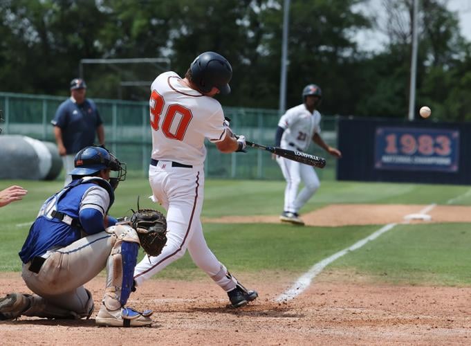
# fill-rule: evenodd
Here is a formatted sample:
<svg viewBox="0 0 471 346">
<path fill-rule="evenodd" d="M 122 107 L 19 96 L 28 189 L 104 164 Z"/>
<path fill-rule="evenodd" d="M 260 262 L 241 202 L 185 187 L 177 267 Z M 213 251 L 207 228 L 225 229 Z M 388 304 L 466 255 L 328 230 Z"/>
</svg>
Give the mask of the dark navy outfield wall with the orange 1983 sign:
<svg viewBox="0 0 471 346">
<path fill-rule="evenodd" d="M 338 180 L 471 183 L 470 123 L 340 118 L 338 145 Z"/>
</svg>

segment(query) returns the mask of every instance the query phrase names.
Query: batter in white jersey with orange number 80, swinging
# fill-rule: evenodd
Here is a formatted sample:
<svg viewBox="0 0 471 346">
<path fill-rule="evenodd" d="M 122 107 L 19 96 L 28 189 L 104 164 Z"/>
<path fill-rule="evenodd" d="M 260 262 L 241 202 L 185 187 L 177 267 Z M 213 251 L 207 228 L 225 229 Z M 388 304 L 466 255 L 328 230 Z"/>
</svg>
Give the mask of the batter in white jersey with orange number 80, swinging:
<svg viewBox="0 0 471 346">
<path fill-rule="evenodd" d="M 158 75 L 151 85 L 152 154 L 149 182 L 153 198 L 167 210 L 167 245 L 156 256 L 145 257 L 134 272 L 136 286 L 181 258 L 188 249 L 194 263 L 219 284 L 232 307 L 257 298 L 217 260 L 203 237 L 206 157 L 205 138 L 223 153 L 243 151 L 246 140 L 233 136 L 224 120 L 217 93 L 230 93 L 232 67 L 221 55 L 198 55 L 181 78 L 174 72 Z"/>
</svg>

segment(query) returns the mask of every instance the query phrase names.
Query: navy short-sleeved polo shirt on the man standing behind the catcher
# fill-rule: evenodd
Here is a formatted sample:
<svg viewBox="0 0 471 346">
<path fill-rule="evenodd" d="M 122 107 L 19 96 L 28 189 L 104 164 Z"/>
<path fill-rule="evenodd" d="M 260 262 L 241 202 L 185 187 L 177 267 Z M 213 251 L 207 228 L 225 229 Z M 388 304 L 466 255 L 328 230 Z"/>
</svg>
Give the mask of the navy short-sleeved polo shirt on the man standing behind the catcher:
<svg viewBox="0 0 471 346">
<path fill-rule="evenodd" d="M 85 99 L 82 104 L 77 104 L 68 98 L 60 104 L 51 123 L 62 130 L 67 154 L 75 154 L 93 145 L 96 129 L 103 121 L 92 100 Z"/>
</svg>

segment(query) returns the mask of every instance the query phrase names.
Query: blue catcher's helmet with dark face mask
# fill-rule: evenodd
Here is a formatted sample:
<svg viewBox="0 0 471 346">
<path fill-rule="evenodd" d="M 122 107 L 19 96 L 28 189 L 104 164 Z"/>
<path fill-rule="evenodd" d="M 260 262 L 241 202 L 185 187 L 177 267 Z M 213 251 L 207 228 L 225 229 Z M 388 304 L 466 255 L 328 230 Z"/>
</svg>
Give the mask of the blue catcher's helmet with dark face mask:
<svg viewBox="0 0 471 346">
<path fill-rule="evenodd" d="M 105 147 L 85 147 L 75 155 L 74 165 L 75 168 L 69 173 L 72 176 L 90 176 L 108 168 L 117 172 L 116 176 L 109 179 L 113 189 L 118 187 L 120 181 L 126 180 L 126 163 L 120 163 Z"/>
</svg>

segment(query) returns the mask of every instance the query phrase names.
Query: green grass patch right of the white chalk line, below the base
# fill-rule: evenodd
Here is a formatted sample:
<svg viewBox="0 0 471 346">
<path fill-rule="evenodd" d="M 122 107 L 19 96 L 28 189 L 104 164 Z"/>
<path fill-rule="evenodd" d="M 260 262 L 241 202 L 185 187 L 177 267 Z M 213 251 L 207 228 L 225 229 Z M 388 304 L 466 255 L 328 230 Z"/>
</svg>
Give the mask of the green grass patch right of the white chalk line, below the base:
<svg viewBox="0 0 471 346">
<path fill-rule="evenodd" d="M 471 284 L 469 224 L 396 226 L 330 268 L 394 284 Z"/>
</svg>

